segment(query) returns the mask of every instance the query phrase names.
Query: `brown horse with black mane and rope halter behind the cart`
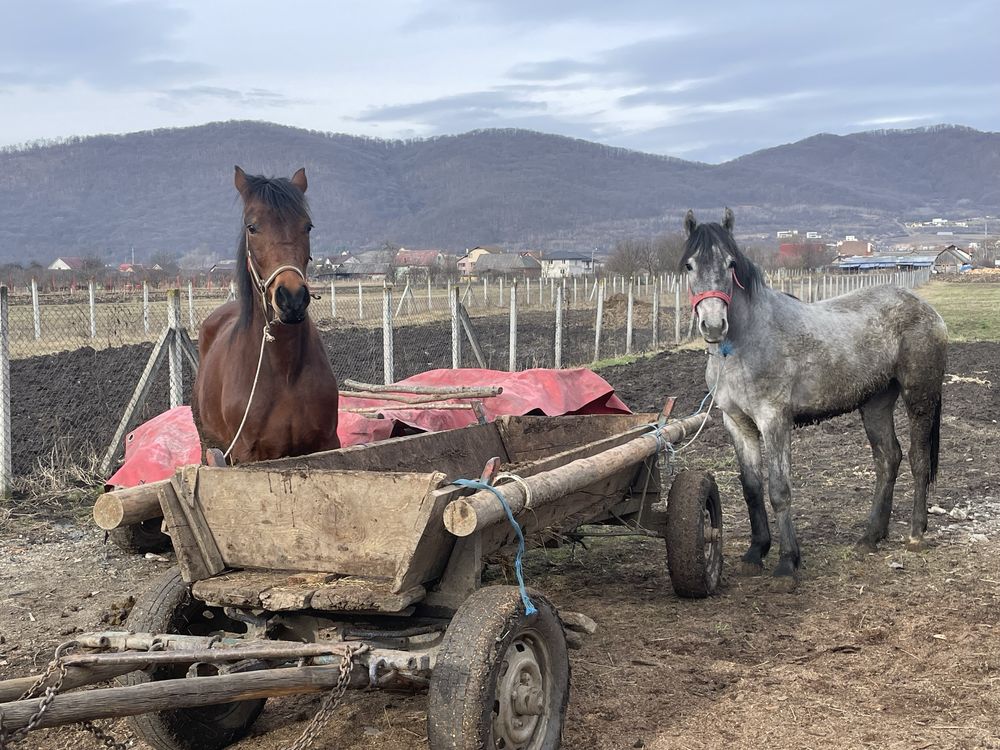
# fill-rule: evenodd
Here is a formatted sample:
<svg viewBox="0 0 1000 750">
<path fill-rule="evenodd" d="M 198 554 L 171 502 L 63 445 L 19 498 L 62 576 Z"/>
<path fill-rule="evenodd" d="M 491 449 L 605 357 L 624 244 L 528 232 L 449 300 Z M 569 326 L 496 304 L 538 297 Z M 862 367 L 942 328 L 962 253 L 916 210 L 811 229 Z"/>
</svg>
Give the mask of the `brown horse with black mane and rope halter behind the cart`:
<svg viewBox="0 0 1000 750">
<path fill-rule="evenodd" d="M 195 423 L 232 463 L 339 448 L 337 380 L 307 309 L 305 169 L 288 180 L 236 167 L 235 182 L 243 198 L 239 299 L 201 326 Z"/>
</svg>

